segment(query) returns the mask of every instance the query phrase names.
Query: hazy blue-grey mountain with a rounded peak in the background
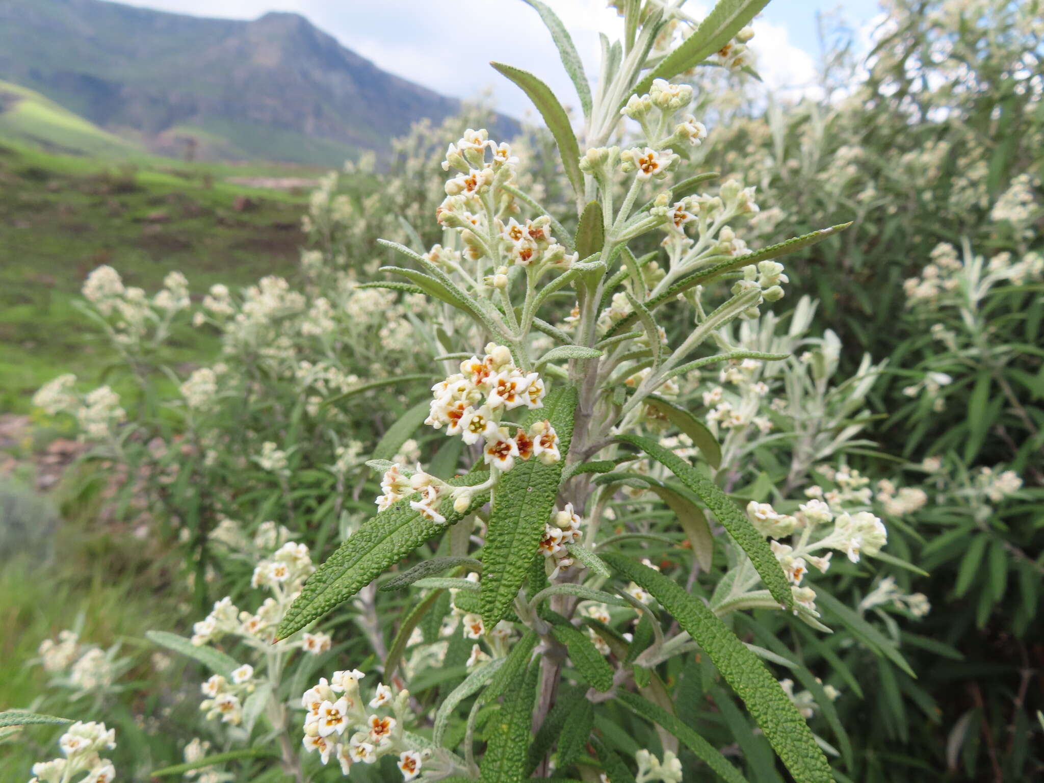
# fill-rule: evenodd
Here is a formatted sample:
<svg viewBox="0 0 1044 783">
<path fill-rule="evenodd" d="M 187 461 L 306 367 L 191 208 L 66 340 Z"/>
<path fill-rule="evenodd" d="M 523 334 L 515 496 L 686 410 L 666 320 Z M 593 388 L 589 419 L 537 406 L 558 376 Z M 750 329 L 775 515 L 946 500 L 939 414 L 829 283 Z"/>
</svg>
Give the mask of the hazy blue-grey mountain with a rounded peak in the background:
<svg viewBox="0 0 1044 783">
<path fill-rule="evenodd" d="M 156 151 L 176 153 L 192 138 L 200 156 L 224 159 L 337 165 L 388 151 L 413 121 L 459 106 L 300 14 L 243 22 L 103 0 L 0 7 L 0 79 Z"/>
</svg>

